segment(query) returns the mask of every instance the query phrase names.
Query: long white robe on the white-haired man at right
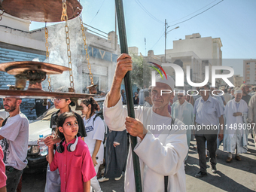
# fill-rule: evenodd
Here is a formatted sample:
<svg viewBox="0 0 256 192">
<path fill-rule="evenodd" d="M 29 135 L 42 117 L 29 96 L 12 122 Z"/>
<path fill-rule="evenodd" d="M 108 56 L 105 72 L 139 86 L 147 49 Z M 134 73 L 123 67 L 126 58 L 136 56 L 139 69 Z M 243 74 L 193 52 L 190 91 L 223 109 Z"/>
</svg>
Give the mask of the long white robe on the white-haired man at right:
<svg viewBox="0 0 256 192">
<path fill-rule="evenodd" d="M 224 151 L 234 153 L 237 145 L 237 153 L 242 154 L 247 151 L 247 142 L 248 142 L 248 130 L 246 126 L 243 125 L 242 116 L 233 116 L 233 113 L 241 112 L 243 115 L 247 115 L 248 106 L 244 100 L 240 100 L 239 108 L 236 108 L 235 99 L 227 102 L 225 107 L 224 114 L 227 119 L 227 124 L 224 126 Z M 235 123 L 237 124 L 237 129 L 234 129 Z M 245 129 L 244 129 L 245 128 Z"/>
</svg>

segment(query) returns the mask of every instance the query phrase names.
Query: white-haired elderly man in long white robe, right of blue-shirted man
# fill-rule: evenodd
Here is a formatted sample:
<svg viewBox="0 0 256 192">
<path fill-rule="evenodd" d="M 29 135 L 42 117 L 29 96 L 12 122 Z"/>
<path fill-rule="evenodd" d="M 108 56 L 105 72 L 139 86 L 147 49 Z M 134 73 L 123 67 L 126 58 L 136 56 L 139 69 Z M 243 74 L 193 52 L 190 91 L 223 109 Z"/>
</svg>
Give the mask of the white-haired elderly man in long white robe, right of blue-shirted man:
<svg viewBox="0 0 256 192">
<path fill-rule="evenodd" d="M 247 152 L 248 133 L 245 122 L 248 106 L 242 100 L 242 90 L 235 91 L 235 98 L 227 102 L 224 114 L 227 118 L 224 127 L 224 151 L 227 151 L 227 163 L 232 161 L 232 153 L 236 151 L 236 160 L 241 160 L 239 154 Z"/>
</svg>

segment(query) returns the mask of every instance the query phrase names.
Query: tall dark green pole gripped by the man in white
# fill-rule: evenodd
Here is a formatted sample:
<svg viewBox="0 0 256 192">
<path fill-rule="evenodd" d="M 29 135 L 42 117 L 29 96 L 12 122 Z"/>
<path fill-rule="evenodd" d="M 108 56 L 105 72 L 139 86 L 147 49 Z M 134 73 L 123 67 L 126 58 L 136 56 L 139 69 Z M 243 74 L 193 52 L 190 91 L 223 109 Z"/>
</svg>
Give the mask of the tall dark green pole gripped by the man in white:
<svg viewBox="0 0 256 192">
<path fill-rule="evenodd" d="M 115 6 L 117 11 L 117 24 L 118 24 L 121 53 L 128 54 L 126 28 L 124 23 L 124 14 L 123 14 L 123 1 L 115 0 Z M 133 89 L 131 84 L 130 72 L 127 72 L 126 75 L 124 76 L 124 85 L 126 90 L 128 116 L 135 118 L 134 105 L 133 105 Z M 130 141 L 132 145 L 132 150 L 134 150 L 137 144 L 137 138 L 134 136 L 130 136 Z M 141 178 L 141 172 L 139 167 L 139 157 L 134 151 L 133 151 L 133 170 L 134 170 L 134 178 L 135 178 L 135 184 L 136 184 L 136 192 L 142 192 L 142 178 Z"/>
</svg>

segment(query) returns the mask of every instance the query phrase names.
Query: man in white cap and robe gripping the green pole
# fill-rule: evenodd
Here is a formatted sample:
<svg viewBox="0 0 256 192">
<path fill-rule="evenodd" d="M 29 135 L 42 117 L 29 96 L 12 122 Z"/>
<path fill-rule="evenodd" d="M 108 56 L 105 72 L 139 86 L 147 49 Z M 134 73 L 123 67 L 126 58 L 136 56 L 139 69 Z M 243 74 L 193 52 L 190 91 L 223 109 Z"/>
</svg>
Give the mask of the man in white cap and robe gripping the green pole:
<svg viewBox="0 0 256 192">
<path fill-rule="evenodd" d="M 169 100 L 173 98 L 169 90 L 174 90 L 175 82 L 169 76 L 167 79 L 157 76 L 156 86 L 151 89 L 153 106 L 139 106 L 135 110 L 136 119 L 127 117 L 127 109 L 123 108 L 120 98 L 120 86 L 126 72 L 133 69 L 132 63 L 131 57 L 125 53 L 117 59 L 111 90 L 104 103 L 105 123 L 110 130 L 126 129 L 131 136 L 137 137 L 134 152 L 139 157 L 143 191 L 164 191 L 164 176 L 168 176 L 168 191 L 186 191 L 183 163 L 187 155 L 186 132 L 181 130 L 184 124 L 180 120 L 173 122 L 168 112 Z M 166 93 L 161 94 L 161 90 L 166 90 Z M 173 129 L 170 128 L 172 123 Z M 131 146 L 124 190 L 136 191 Z"/>
</svg>

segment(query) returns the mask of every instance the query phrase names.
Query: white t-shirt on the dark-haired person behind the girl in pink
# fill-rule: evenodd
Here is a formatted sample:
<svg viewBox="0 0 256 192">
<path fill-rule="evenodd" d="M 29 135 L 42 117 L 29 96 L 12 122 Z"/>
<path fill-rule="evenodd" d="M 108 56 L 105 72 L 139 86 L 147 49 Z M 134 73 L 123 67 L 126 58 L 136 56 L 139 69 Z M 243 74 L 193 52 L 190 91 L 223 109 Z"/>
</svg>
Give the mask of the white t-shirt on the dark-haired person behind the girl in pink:
<svg viewBox="0 0 256 192">
<path fill-rule="evenodd" d="M 101 140 L 102 143 L 100 144 L 98 154 L 96 157 L 98 159 L 96 160 L 98 164 L 103 163 L 103 157 L 104 157 L 104 136 L 105 136 L 105 124 L 103 120 L 100 117 L 96 117 L 93 123 L 93 119 L 95 118 L 96 114 L 93 114 L 92 117 L 89 119 L 85 119 L 84 117 L 84 126 L 85 130 L 87 132 L 87 136 L 84 137 L 84 142 L 88 145 L 90 156 L 93 155 L 93 151 L 95 148 L 96 140 Z"/>
</svg>

